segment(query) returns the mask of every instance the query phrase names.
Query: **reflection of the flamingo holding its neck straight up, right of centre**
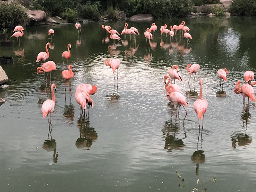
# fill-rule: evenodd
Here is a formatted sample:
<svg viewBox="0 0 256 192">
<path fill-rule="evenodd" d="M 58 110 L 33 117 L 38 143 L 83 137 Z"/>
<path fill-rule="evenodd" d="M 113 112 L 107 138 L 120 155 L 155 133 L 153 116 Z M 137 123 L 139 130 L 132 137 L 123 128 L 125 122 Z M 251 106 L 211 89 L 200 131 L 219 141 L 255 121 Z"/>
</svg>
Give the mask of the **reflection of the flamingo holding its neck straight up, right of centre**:
<svg viewBox="0 0 256 192">
<path fill-rule="evenodd" d="M 201 150 L 198 150 L 200 136 L 201 136 Z M 198 175 L 199 174 L 199 164 L 205 162 L 205 154 L 203 151 L 203 138 L 202 138 L 202 132 L 200 133 L 200 128 L 199 128 L 199 132 L 198 132 L 196 151 L 192 154 L 191 160 L 193 163 L 196 163 L 196 175 Z"/>
</svg>

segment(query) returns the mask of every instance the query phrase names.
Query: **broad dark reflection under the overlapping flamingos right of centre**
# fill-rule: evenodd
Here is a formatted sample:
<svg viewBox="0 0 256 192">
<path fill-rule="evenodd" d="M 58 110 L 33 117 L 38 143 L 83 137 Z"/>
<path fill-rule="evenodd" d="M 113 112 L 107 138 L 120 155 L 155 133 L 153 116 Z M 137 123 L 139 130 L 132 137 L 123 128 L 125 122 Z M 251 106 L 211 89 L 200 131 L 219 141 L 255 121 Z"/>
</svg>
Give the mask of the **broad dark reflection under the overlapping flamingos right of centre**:
<svg viewBox="0 0 256 192">
<path fill-rule="evenodd" d="M 162 129 L 163 137 L 165 138 L 164 149 L 166 149 L 168 153 L 171 153 L 172 150 L 183 150 L 186 146 L 182 139 L 176 137 L 179 128 L 179 124 L 170 120 L 164 124 L 164 128 Z"/>
</svg>

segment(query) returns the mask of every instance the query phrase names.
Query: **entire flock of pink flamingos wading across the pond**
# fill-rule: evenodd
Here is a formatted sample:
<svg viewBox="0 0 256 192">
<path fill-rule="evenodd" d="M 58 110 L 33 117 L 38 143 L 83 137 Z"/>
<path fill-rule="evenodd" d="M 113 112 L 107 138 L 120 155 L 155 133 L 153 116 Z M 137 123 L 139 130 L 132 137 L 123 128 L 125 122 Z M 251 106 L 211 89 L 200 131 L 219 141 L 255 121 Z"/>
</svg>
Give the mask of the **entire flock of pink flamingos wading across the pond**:
<svg viewBox="0 0 256 192">
<path fill-rule="evenodd" d="M 76 23 L 75 27 L 78 30 L 78 35 L 79 35 L 79 32 L 81 34 L 81 25 Z M 110 34 L 110 38 L 113 40 L 114 46 L 115 46 L 115 40 L 118 40 L 118 43 L 120 43 L 121 38 L 120 38 L 120 34 L 117 30 L 111 29 L 111 26 L 106 26 L 106 25 L 105 26 L 102 25 L 102 28 L 104 30 L 106 30 L 106 36 L 107 36 L 107 33 Z M 19 42 L 19 37 L 22 37 L 24 34 L 23 30 L 24 30 L 24 28 L 22 26 L 16 26 L 16 28 L 14 29 L 14 34 L 11 37 L 17 37 L 18 42 Z M 152 41 L 150 41 L 150 40 L 152 40 L 154 38 L 155 32 L 157 30 L 158 30 L 158 28 L 155 23 L 152 23 L 151 27 L 146 28 L 146 31 L 144 32 L 144 36 L 146 38 L 146 44 L 148 44 L 148 41 L 149 41 L 149 44 L 150 44 L 150 42 L 152 43 Z M 180 31 L 180 36 L 183 35 L 184 38 L 187 38 L 187 43 L 190 43 L 189 39 L 192 39 L 192 36 L 187 32 L 190 30 L 190 28 L 185 26 L 184 21 L 182 21 L 182 23 L 180 25 L 171 25 L 170 30 L 167 29 L 167 24 L 164 24 L 163 26 L 161 26 L 160 27 L 161 38 L 164 34 L 166 34 L 165 38 L 167 38 L 167 34 L 169 34 L 170 41 L 171 41 L 171 38 L 178 36 L 178 30 Z M 153 32 L 153 34 L 151 32 Z M 54 30 L 53 29 L 48 30 L 47 34 L 51 35 L 51 38 L 52 38 L 52 35 L 54 37 Z M 125 34 L 125 35 L 130 34 L 130 40 L 131 40 L 131 35 L 133 35 L 134 40 L 136 40 L 136 36 L 139 35 L 140 33 L 138 32 L 138 30 L 135 27 L 128 28 L 128 23 L 125 22 L 124 30 L 121 32 L 121 35 L 123 35 L 123 34 Z M 37 68 L 37 74 L 44 72 L 48 76 L 48 72 L 50 72 L 49 82 L 51 84 L 51 73 L 53 70 L 56 70 L 56 64 L 54 61 L 51 61 L 51 60 L 46 62 L 46 60 L 50 57 L 50 53 L 48 50 L 49 46 L 50 46 L 50 42 L 46 43 L 46 46 L 45 46 L 46 52 L 38 53 L 36 62 L 41 62 L 41 66 L 39 66 Z M 69 90 L 71 91 L 70 80 L 75 76 L 75 74 L 72 71 L 72 67 L 73 67 L 72 64 L 68 65 L 68 60 L 71 57 L 70 50 L 71 50 L 71 44 L 68 44 L 67 51 L 62 52 L 63 64 L 64 64 L 63 59 L 66 59 L 66 67 L 64 64 L 64 70 L 62 71 L 62 77 L 63 77 L 64 81 L 69 82 Z M 121 61 L 120 61 L 120 59 L 117 59 L 117 58 L 112 58 L 112 59 L 106 58 L 104 62 L 105 62 L 105 65 L 110 66 L 110 68 L 113 71 L 114 86 L 115 86 L 115 77 L 118 80 L 118 69 L 120 67 Z M 67 67 L 68 67 L 68 70 L 66 69 Z M 196 73 L 199 72 L 200 65 L 196 64 L 196 63 L 187 64 L 186 70 L 189 72 L 188 85 L 190 84 L 191 75 L 194 74 L 194 86 L 195 86 Z M 116 75 L 115 75 L 115 71 L 117 71 Z M 174 105 L 174 108 L 176 110 L 175 120 L 177 120 L 177 116 L 179 115 L 180 106 L 182 106 L 184 108 L 184 110 L 186 112 L 184 120 L 183 120 L 183 124 L 184 124 L 186 116 L 188 115 L 186 108 L 189 107 L 189 104 L 186 100 L 186 97 L 181 93 L 181 91 L 180 91 L 181 89 L 178 86 L 178 84 L 177 83 L 175 84 L 175 80 L 178 80 L 179 82 L 182 82 L 182 80 L 183 80 L 182 76 L 179 72 L 179 66 L 173 65 L 168 70 L 167 73 L 168 73 L 168 75 L 164 75 L 166 98 L 168 99 L 168 101 L 172 102 L 172 104 Z M 226 68 L 219 69 L 217 71 L 217 76 L 220 78 L 220 88 L 222 86 L 222 90 L 223 90 L 224 81 L 227 82 L 227 74 L 228 74 L 228 70 Z M 46 76 L 46 83 L 47 83 L 47 76 Z M 168 82 L 166 82 L 167 79 L 168 79 Z M 174 80 L 174 83 L 173 83 L 173 80 Z M 251 100 L 252 102 L 255 102 L 254 89 L 252 88 L 252 86 L 254 84 L 256 84 L 256 81 L 252 82 L 252 81 L 254 81 L 254 72 L 246 71 L 244 73 L 244 80 L 245 80 L 245 83 L 242 85 L 241 85 L 240 80 L 237 81 L 234 92 L 236 94 L 241 94 L 243 96 L 243 101 L 244 101 L 243 103 L 244 103 L 244 110 L 245 110 L 246 97 L 248 98 L 248 104 L 249 104 L 249 100 Z M 199 98 L 194 101 L 193 109 L 198 116 L 198 127 L 200 128 L 200 120 L 202 120 L 202 129 L 203 129 L 204 114 L 207 111 L 208 102 L 202 96 L 202 85 L 203 85 L 203 79 L 200 78 L 199 79 L 200 95 L 199 95 Z M 49 127 L 50 127 L 50 125 L 52 125 L 51 115 L 52 115 L 52 112 L 54 111 L 54 106 L 55 106 L 55 95 L 54 95 L 53 89 L 56 90 L 56 84 L 54 84 L 54 83 L 51 84 L 52 99 L 47 99 L 46 101 L 44 101 L 44 103 L 42 104 L 42 108 L 41 108 L 42 113 L 43 113 L 43 118 L 45 118 L 46 115 L 48 117 L 48 114 L 50 114 L 50 119 L 48 117 Z M 75 93 L 75 99 L 76 99 L 76 102 L 80 106 L 80 115 L 81 116 L 82 115 L 86 115 L 87 117 L 89 116 L 89 108 L 94 107 L 94 102 L 93 102 L 91 96 L 94 95 L 97 92 L 97 90 L 98 90 L 98 87 L 96 85 L 92 86 L 91 84 L 81 83 L 77 86 L 76 93 Z M 65 92 L 66 92 L 66 86 L 65 86 Z M 247 110 L 248 110 L 248 108 L 247 108 Z"/>
</svg>

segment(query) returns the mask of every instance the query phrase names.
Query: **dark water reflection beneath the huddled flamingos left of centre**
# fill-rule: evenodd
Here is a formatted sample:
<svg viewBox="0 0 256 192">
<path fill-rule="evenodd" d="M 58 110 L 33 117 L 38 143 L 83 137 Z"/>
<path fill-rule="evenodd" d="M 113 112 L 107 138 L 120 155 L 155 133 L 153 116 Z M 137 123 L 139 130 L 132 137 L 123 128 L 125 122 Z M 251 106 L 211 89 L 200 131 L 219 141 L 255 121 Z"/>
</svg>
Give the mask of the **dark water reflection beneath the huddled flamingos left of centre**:
<svg viewBox="0 0 256 192">
<path fill-rule="evenodd" d="M 98 134 L 92 126 L 90 126 L 90 121 L 86 118 L 80 118 L 77 121 L 77 126 L 80 131 L 80 136 L 76 140 L 76 147 L 86 150 L 90 150 L 92 144 L 98 139 Z"/>
</svg>

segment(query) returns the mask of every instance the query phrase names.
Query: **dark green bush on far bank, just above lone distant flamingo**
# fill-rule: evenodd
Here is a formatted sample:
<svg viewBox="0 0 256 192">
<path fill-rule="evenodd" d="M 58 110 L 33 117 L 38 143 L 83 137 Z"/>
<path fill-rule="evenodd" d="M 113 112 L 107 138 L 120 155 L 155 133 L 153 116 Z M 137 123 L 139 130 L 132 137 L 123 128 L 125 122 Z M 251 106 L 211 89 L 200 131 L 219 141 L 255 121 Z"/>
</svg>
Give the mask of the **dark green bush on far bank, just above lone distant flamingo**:
<svg viewBox="0 0 256 192">
<path fill-rule="evenodd" d="M 94 21 L 100 18 L 100 2 L 87 1 L 86 4 L 78 6 L 79 16 Z"/>
</svg>

